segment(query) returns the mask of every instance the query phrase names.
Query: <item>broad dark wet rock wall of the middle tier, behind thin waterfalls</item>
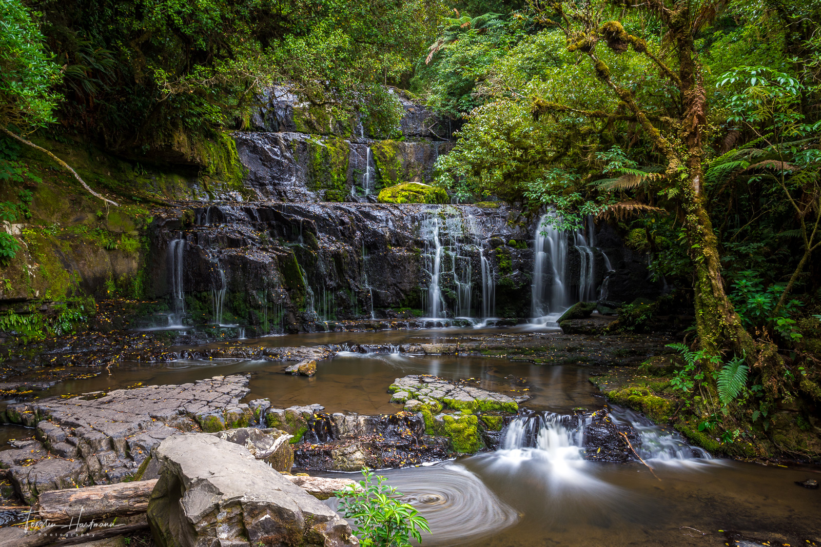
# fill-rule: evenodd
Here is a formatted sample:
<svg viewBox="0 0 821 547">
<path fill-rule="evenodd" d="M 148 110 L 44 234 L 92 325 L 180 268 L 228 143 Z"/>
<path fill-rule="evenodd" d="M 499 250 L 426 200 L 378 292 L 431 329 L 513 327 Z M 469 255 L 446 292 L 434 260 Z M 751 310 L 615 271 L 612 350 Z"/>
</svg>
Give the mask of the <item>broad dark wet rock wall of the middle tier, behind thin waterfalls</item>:
<svg viewBox="0 0 821 547">
<path fill-rule="evenodd" d="M 154 294 L 171 294 L 177 260 L 168 249 L 180 248 L 170 242 L 184 239 L 179 278 L 186 298 L 201 304 L 186 308 L 185 321 L 217 321 L 213 302 L 218 299 L 219 322 L 247 326 L 256 335 L 327 330 L 333 321 L 372 314 L 387 318 L 397 309 L 428 315 L 436 230 L 438 240 L 450 245 L 441 253 L 458 256 L 444 261 L 440 272 L 440 317 L 479 317 L 482 259 L 494 276 L 498 256 L 507 255 L 493 245 L 529 237 L 525 223 L 512 222 L 518 217 L 505 206 L 222 204 L 193 209 L 194 224 L 181 223 L 185 214 L 155 217 L 157 251 L 149 269 Z M 532 252 L 514 250 L 524 276 L 532 268 Z M 518 291 L 516 298 L 516 308 L 530 306 L 529 292 Z"/>
</svg>

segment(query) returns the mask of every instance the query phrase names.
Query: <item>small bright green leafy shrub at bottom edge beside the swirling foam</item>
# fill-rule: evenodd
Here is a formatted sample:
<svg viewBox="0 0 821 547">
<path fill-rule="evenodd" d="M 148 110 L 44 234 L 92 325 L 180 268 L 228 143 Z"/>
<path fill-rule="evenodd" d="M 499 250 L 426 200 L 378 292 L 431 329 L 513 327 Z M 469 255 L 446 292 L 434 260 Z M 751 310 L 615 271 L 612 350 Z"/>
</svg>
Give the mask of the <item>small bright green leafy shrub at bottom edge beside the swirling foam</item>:
<svg viewBox="0 0 821 547">
<path fill-rule="evenodd" d="M 401 492 L 383 484 L 384 476 L 374 476 L 363 467 L 364 481 L 334 492 L 339 510 L 353 518 L 360 545 L 364 547 L 410 547 L 410 538 L 421 542 L 420 530 L 429 532 L 428 521 L 410 504 L 397 501 Z"/>
</svg>

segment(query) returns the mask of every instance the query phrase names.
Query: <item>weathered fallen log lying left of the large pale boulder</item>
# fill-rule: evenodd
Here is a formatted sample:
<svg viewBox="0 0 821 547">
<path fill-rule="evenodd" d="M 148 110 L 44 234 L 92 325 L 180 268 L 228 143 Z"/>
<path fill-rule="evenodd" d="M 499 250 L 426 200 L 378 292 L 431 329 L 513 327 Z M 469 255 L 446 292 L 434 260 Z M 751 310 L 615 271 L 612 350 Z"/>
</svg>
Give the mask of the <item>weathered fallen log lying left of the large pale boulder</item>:
<svg viewBox="0 0 821 547">
<path fill-rule="evenodd" d="M 155 484 L 157 479 L 49 490 L 39 496 L 32 513 L 48 522 L 85 522 L 94 518 L 145 513 Z"/>
</svg>

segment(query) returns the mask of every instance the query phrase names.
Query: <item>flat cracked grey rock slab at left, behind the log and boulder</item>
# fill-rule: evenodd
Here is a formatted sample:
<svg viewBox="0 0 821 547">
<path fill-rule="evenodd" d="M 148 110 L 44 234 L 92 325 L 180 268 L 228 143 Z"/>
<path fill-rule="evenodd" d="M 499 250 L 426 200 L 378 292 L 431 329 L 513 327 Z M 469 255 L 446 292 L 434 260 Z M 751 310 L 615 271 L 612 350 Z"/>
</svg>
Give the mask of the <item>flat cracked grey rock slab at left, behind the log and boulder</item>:
<svg viewBox="0 0 821 547">
<path fill-rule="evenodd" d="M 84 394 L 10 404 L 12 423 L 36 427 L 38 440 L 0 454 L 17 495 L 32 504 L 39 493 L 120 482 L 134 476 L 152 449 L 183 431 L 248 425 L 239 401 L 246 376 L 214 376 L 182 385 L 149 385 L 108 394 Z M 245 422 L 245 423 L 243 423 Z"/>
</svg>

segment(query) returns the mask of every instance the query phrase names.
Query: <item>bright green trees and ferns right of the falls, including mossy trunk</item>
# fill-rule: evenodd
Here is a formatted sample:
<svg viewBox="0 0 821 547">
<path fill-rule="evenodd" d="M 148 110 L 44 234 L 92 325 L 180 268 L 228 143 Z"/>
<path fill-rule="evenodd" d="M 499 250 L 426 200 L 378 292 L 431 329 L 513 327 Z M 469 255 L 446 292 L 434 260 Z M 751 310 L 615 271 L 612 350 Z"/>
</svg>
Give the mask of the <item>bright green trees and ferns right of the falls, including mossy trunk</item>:
<svg viewBox="0 0 821 547">
<path fill-rule="evenodd" d="M 594 215 L 652 253 L 675 290 L 618 322 L 689 303 L 672 387 L 738 447 L 821 403 L 819 21 L 817 2 L 530 2 L 450 21 L 420 65 L 466 118 L 441 183 L 567 229 Z"/>
</svg>

